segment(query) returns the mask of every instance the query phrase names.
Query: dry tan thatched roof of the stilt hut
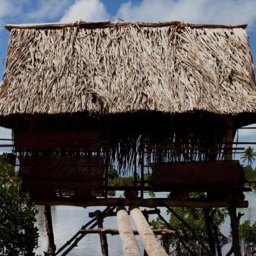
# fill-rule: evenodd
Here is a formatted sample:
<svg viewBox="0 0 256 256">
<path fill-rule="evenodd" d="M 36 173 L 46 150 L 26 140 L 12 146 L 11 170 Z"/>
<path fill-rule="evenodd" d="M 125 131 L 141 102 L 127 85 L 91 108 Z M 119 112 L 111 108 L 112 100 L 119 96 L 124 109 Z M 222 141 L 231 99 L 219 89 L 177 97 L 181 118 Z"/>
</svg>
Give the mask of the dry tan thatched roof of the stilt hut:
<svg viewBox="0 0 256 256">
<path fill-rule="evenodd" d="M 256 112 L 244 25 L 8 25 L 0 115 Z"/>
</svg>

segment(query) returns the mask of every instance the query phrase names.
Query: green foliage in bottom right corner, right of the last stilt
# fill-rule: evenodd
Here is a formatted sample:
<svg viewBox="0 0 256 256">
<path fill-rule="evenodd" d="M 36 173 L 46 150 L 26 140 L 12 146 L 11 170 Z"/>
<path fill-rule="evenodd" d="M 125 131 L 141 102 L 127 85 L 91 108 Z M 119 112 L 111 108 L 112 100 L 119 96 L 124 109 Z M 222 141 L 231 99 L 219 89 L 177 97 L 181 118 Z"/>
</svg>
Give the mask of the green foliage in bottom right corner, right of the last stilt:
<svg viewBox="0 0 256 256">
<path fill-rule="evenodd" d="M 256 221 L 251 225 L 250 220 L 239 225 L 241 246 L 245 256 L 256 255 Z"/>
</svg>

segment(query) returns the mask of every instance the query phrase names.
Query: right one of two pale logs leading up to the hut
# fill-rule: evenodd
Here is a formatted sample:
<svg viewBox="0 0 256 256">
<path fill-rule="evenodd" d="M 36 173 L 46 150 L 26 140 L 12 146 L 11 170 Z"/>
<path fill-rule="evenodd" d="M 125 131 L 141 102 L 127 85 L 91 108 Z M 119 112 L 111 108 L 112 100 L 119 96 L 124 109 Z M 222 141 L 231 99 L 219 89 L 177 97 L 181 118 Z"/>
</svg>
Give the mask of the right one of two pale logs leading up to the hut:
<svg viewBox="0 0 256 256">
<path fill-rule="evenodd" d="M 143 247 L 148 253 L 148 256 L 167 256 L 164 248 L 157 242 L 156 236 L 140 209 L 137 207 L 131 208 L 130 215 L 138 228 Z"/>
</svg>

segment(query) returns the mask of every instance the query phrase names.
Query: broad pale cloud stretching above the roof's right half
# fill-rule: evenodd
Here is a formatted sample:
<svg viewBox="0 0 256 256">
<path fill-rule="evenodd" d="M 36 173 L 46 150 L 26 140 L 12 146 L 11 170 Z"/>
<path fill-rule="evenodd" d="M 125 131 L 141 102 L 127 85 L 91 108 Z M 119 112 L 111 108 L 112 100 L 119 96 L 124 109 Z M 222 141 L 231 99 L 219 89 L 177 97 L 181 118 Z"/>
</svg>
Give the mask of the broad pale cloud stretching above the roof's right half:
<svg viewBox="0 0 256 256">
<path fill-rule="evenodd" d="M 253 24 L 255 9 L 255 0 L 143 0 L 122 4 L 116 17 L 125 21 Z"/>
</svg>

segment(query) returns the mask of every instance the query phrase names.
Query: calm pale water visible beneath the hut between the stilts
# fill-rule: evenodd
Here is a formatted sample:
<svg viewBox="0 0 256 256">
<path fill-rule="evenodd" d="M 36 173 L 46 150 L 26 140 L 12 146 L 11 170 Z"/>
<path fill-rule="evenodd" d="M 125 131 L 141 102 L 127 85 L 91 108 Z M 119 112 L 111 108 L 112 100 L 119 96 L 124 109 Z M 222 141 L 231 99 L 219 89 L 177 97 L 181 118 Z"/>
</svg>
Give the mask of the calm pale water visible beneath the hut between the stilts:
<svg viewBox="0 0 256 256">
<path fill-rule="evenodd" d="M 157 197 L 163 197 L 166 193 L 156 193 Z M 245 215 L 241 218 L 241 222 L 244 220 L 251 220 L 251 222 L 256 221 L 256 193 L 246 193 L 246 200 L 249 201 L 249 207 L 246 209 L 239 209 L 240 212 L 245 213 Z M 44 207 L 38 206 L 38 216 L 37 216 L 37 226 L 40 232 L 40 239 L 37 253 L 40 255 L 44 255 L 44 250 L 46 246 L 46 239 L 44 234 Z M 87 221 L 91 220 L 88 217 L 88 212 L 93 212 L 97 209 L 101 211 L 104 207 L 88 207 L 87 209 L 83 209 L 82 207 L 74 207 L 74 206 L 52 206 L 52 225 L 54 228 L 54 239 L 57 248 L 60 248 L 70 237 L 73 236 L 81 228 L 81 226 Z M 144 209 L 144 208 L 141 208 Z M 165 209 L 161 209 L 161 212 L 166 218 L 169 217 L 166 215 Z M 150 216 L 150 220 L 152 218 L 156 218 L 156 216 Z M 130 219 L 133 227 L 134 223 Z M 104 220 L 103 223 L 106 228 L 117 228 L 116 217 L 108 217 Z M 228 236 L 230 233 L 230 221 L 229 218 L 225 221 L 225 223 L 221 227 L 221 231 L 225 236 Z M 138 244 L 140 246 L 141 252 L 143 252 L 141 242 L 138 236 Z M 111 236 L 108 235 L 108 244 L 109 244 L 109 255 L 119 256 L 122 255 L 122 244 L 119 236 Z M 223 249 L 224 252 L 227 252 L 230 247 L 230 244 L 227 244 Z M 76 248 L 72 250 L 68 255 L 102 255 L 100 249 L 100 241 L 99 235 L 97 234 L 88 234 L 86 235 L 78 244 Z"/>
</svg>

